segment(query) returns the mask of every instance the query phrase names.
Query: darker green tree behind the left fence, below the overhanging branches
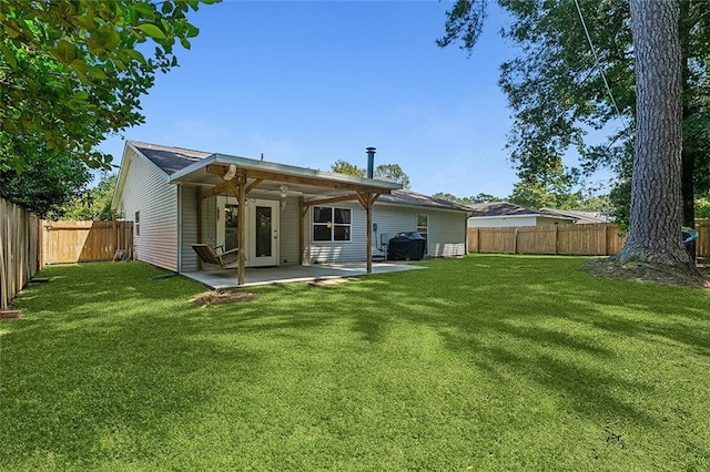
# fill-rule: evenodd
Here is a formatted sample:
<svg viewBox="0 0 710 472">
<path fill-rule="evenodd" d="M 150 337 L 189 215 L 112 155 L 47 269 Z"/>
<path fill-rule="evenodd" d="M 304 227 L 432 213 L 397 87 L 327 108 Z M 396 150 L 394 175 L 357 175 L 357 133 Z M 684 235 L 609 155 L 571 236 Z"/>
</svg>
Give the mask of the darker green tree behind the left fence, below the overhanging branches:
<svg viewBox="0 0 710 472">
<path fill-rule="evenodd" d="M 43 142 L 18 138 L 14 146 L 26 156 L 27 167 L 0 167 L 0 196 L 41 218 L 61 215 L 91 178 L 83 162 L 48 150 Z"/>
</svg>

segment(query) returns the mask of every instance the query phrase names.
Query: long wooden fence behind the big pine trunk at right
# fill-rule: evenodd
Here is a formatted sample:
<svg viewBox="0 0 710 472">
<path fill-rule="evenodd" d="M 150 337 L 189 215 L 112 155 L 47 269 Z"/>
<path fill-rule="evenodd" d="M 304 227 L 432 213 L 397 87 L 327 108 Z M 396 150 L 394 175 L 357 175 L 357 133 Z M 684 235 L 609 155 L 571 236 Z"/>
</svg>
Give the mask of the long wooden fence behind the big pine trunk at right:
<svg viewBox="0 0 710 472">
<path fill-rule="evenodd" d="M 696 224 L 698 257 L 710 257 L 710 219 Z M 468 228 L 469 253 L 611 256 L 626 238 L 611 224 Z"/>
</svg>

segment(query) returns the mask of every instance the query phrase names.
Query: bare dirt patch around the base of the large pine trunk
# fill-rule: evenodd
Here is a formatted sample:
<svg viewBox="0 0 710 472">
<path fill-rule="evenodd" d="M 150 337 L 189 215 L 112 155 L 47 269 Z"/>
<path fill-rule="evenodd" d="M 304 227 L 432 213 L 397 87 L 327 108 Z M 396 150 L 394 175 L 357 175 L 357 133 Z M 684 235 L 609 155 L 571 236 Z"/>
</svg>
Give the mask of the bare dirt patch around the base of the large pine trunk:
<svg viewBox="0 0 710 472">
<path fill-rule="evenodd" d="M 647 263 L 619 264 L 616 257 L 607 257 L 590 260 L 582 266 L 582 269 L 598 277 L 710 289 L 710 265 L 708 264 L 698 264 L 697 269 L 693 270 Z"/>
</svg>

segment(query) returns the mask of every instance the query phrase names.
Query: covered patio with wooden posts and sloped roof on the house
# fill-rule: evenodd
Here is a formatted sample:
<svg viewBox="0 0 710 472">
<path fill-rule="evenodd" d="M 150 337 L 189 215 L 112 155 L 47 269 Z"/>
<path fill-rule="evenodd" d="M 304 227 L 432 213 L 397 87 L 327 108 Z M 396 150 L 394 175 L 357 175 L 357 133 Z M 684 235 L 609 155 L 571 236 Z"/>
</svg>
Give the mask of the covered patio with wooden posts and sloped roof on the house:
<svg viewBox="0 0 710 472">
<path fill-rule="evenodd" d="M 239 208 L 234 225 L 236 228 L 235 244 L 233 244 L 233 247 L 239 248 L 236 253 L 236 270 L 203 271 L 203 263 L 211 263 L 203 258 L 199 258 L 196 261 L 199 271 L 193 271 L 194 266 L 187 270 L 181 270 L 180 268 L 184 267 L 182 263 L 179 264 L 179 270 L 187 277 L 203 281 L 212 287 L 248 286 L 260 283 L 273 283 L 274 279 L 337 277 L 342 276 L 341 273 L 343 270 L 345 270 L 346 275 L 356 275 L 353 271 L 359 269 L 343 269 L 342 267 L 337 269 L 341 273 L 332 273 L 336 269 L 331 268 L 328 274 L 322 274 L 323 267 L 311 268 L 307 266 L 310 260 L 304 258 L 311 244 L 311 238 L 307 236 L 310 225 L 305 222 L 308 211 L 323 205 L 354 202 L 359 204 L 366 215 L 365 237 L 362 238 L 361 236 L 362 239 L 359 239 L 364 243 L 362 254 L 363 270 L 366 274 L 373 273 L 373 246 L 375 245 L 373 240 L 373 204 L 381 195 L 388 195 L 393 189 L 400 189 L 402 185 L 373 179 L 372 162 L 375 148 L 368 147 L 366 151 L 368 155 L 367 178 L 223 154 L 212 154 L 173 173 L 169 182 L 178 184 L 181 194 L 190 195 L 185 196 L 184 202 L 186 203 L 183 204 L 179 215 L 179 227 L 181 228 L 178 242 L 179 247 L 185 248 L 191 245 L 199 245 L 205 243 L 204 239 L 207 239 L 206 243 L 214 247 L 222 246 L 224 249 L 231 249 L 219 240 L 216 244 L 212 244 L 210 236 L 205 236 L 206 233 L 212 230 L 215 219 L 211 219 L 210 216 L 204 214 L 203 202 L 225 196 L 234 198 L 235 205 L 233 206 Z M 192 192 L 194 192 L 194 197 L 192 197 Z M 295 205 L 288 204 L 286 206 L 288 199 Z M 278 204 L 281 204 L 281 211 L 278 209 Z M 284 211 L 284 208 L 286 209 Z M 263 213 L 260 213 L 262 211 Z M 274 215 L 280 213 L 293 215 L 291 220 L 296 225 L 291 230 L 283 232 L 283 234 L 278 228 L 278 223 L 274 223 L 278 219 L 278 217 L 274 218 Z M 196 225 L 194 228 L 191 226 L 193 214 Z M 345 223 L 348 232 L 352 228 L 349 217 L 351 214 L 347 213 L 348 219 Z M 246 218 L 250 218 L 248 222 Z M 324 227 L 327 230 L 336 227 L 338 223 L 343 223 L 335 217 L 327 217 L 326 219 L 327 224 Z M 217 214 L 216 222 L 219 220 L 220 215 Z M 262 222 L 264 223 L 262 224 Z M 260 233 L 255 233 L 256 228 L 260 229 Z M 318 226 L 318 228 L 321 227 Z M 217 234 L 221 235 L 223 229 L 217 230 Z M 347 248 L 352 250 L 355 246 L 351 245 L 353 240 L 351 237 L 348 233 L 344 239 L 346 239 Z M 282 242 L 288 242 L 296 247 L 291 257 L 278 257 Z M 262 245 L 261 247 L 258 246 L 260 244 Z M 270 248 L 270 245 L 273 248 Z M 331 247 L 333 250 L 342 249 L 336 244 L 331 245 Z M 296 253 L 296 250 L 297 255 L 294 257 L 293 253 Z M 191 252 L 192 249 L 187 255 L 181 255 L 181 257 L 193 256 Z M 282 263 L 291 265 L 297 263 L 298 265 L 295 267 L 282 267 Z M 390 266 L 396 265 L 384 265 L 382 267 Z M 268 270 L 272 270 L 273 275 L 262 275 L 267 274 Z M 308 275 L 308 271 L 314 275 Z M 276 274 L 287 275 L 280 276 Z"/>
</svg>

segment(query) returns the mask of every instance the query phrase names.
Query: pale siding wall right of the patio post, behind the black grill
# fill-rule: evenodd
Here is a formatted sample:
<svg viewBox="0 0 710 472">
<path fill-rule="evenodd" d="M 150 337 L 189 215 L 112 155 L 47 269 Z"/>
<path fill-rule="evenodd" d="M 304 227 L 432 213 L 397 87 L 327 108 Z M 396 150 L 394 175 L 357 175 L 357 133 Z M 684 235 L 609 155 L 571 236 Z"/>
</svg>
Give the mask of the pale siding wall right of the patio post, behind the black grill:
<svg viewBox="0 0 710 472">
<path fill-rule="evenodd" d="M 466 254 L 466 214 L 433 207 L 403 205 L 375 205 L 373 223 L 377 223 L 377 239 L 381 247 L 383 234 L 387 240 L 397 233 L 415 232 L 417 215 L 428 215 L 427 254 L 432 257 L 452 257 Z"/>
</svg>

